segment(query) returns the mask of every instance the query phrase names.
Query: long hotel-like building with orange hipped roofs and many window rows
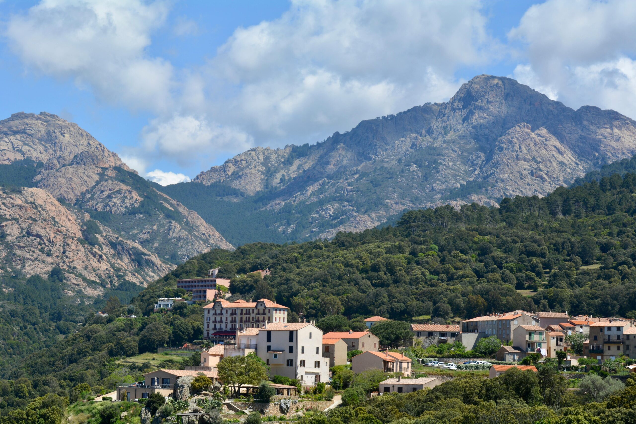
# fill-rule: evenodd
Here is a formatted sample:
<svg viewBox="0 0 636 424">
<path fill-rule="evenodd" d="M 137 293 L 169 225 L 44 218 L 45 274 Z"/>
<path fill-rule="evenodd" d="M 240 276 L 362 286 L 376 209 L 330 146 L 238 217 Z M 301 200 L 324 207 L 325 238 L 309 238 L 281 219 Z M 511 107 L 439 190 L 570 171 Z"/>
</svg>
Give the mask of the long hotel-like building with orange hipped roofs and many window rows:
<svg viewBox="0 0 636 424">
<path fill-rule="evenodd" d="M 214 338 L 215 332 L 235 332 L 244 328 L 263 327 L 287 322 L 289 308 L 268 299 L 229 302 L 219 299 L 204 306 L 204 338 Z"/>
</svg>

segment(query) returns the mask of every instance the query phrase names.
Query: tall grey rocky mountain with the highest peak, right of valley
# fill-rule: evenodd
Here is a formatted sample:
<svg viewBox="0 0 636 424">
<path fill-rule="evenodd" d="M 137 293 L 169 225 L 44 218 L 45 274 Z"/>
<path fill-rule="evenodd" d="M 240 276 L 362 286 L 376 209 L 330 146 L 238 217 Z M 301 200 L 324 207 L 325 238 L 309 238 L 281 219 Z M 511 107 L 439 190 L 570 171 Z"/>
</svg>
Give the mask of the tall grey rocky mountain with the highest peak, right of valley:
<svg viewBox="0 0 636 424">
<path fill-rule="evenodd" d="M 312 146 L 251 149 L 180 186 L 197 195 L 202 186 L 239 190 L 218 196 L 217 209 L 244 203 L 245 219 L 271 217 L 270 237 L 260 239 L 281 242 L 361 231 L 404 209 L 544 196 L 635 153 L 630 118 L 575 111 L 513 79 L 481 75 L 448 102 L 363 121 Z M 177 200 L 201 212 L 181 191 Z M 232 242 L 254 241 L 235 237 L 223 214 L 205 217 Z"/>
</svg>

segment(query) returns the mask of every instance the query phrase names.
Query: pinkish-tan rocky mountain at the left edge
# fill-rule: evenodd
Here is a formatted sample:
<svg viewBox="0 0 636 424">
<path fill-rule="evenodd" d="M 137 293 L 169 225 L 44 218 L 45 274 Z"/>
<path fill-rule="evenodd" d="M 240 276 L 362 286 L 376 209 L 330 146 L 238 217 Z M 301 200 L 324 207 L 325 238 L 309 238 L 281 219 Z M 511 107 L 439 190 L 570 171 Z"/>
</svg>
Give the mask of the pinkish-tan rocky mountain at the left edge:
<svg viewBox="0 0 636 424">
<path fill-rule="evenodd" d="M 124 280 L 144 285 L 214 247 L 233 249 L 196 212 L 52 114 L 0 121 L 0 172 L 6 275 L 45 277 L 59 266 L 68 294 L 90 298 Z"/>
</svg>

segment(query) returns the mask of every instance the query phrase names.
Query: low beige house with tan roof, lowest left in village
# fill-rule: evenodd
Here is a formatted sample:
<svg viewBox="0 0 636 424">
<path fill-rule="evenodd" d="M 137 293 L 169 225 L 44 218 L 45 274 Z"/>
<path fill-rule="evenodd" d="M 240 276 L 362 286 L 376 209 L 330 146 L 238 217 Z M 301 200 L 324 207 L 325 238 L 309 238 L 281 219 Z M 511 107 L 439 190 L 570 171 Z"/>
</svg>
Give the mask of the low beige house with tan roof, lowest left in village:
<svg viewBox="0 0 636 424">
<path fill-rule="evenodd" d="M 151 393 L 162 393 L 164 396 L 174 394 L 174 384 L 183 376 L 204 375 L 217 381 L 219 376 L 211 371 L 183 371 L 181 369 L 158 369 L 144 374 L 143 383 L 134 383 L 117 388 L 117 400 L 147 399 Z"/>
</svg>

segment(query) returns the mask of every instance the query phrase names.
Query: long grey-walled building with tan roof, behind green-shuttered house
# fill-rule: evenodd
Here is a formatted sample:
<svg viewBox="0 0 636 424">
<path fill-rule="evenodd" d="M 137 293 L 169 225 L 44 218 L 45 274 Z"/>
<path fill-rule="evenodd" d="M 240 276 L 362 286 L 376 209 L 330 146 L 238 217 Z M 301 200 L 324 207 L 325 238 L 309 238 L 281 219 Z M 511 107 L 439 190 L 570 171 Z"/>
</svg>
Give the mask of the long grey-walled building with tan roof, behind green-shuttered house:
<svg viewBox="0 0 636 424">
<path fill-rule="evenodd" d="M 507 343 L 513 339 L 513 332 L 518 325 L 537 325 L 537 317 L 527 311 L 512 311 L 502 314 L 486 315 L 462 321 L 462 332 L 483 333 L 485 337 L 497 336 Z"/>
</svg>

